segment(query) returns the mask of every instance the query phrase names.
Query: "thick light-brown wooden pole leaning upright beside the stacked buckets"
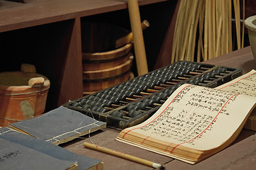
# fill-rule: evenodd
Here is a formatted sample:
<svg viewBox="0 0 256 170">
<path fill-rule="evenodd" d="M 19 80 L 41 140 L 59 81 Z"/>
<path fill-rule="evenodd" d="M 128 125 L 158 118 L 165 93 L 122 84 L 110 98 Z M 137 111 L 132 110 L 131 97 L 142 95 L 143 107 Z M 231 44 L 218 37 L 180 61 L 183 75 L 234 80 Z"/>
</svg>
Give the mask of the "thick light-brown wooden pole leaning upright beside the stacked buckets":
<svg viewBox="0 0 256 170">
<path fill-rule="evenodd" d="M 139 4 L 137 0 L 127 0 L 129 18 L 132 28 L 134 40 L 134 52 L 137 64 L 138 76 L 148 73 L 146 62 L 146 51 L 144 46 L 144 38 L 142 33 L 142 24 L 139 14 Z"/>
</svg>

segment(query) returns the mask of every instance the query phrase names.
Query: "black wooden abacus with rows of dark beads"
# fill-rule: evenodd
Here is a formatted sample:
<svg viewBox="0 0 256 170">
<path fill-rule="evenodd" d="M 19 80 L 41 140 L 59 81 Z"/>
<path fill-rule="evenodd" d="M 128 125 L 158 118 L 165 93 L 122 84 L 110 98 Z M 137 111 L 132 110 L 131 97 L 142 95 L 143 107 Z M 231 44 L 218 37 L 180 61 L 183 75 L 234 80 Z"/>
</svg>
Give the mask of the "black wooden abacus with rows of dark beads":
<svg viewBox="0 0 256 170">
<path fill-rule="evenodd" d="M 149 118 L 181 84 L 213 88 L 240 75 L 241 69 L 181 61 L 63 106 L 122 130 Z"/>
</svg>

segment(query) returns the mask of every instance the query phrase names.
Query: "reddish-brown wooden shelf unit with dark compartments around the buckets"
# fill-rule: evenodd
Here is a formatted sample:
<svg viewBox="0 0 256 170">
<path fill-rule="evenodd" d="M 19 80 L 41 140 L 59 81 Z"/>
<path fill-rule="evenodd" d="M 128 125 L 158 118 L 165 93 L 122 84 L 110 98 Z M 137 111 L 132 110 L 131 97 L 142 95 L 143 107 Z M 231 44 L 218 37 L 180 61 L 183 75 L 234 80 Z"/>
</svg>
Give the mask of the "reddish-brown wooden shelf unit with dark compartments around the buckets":
<svg viewBox="0 0 256 170">
<path fill-rule="evenodd" d="M 142 20 L 151 23 L 144 32 L 149 70 L 163 47 L 176 4 L 139 0 Z M 107 21 L 129 30 L 127 1 L 28 0 L 22 4 L 0 0 L 0 72 L 34 64 L 39 74 L 50 79 L 46 111 L 82 97 L 83 21 Z"/>
</svg>

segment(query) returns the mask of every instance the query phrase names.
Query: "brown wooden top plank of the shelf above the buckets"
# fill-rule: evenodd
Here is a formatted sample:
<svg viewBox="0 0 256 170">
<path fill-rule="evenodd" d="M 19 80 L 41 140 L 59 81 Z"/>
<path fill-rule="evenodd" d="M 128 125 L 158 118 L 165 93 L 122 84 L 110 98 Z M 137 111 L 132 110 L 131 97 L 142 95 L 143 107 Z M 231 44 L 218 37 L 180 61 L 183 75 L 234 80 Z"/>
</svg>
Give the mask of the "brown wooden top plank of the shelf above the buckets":
<svg viewBox="0 0 256 170">
<path fill-rule="evenodd" d="M 139 5 L 161 1 L 168 0 L 140 0 Z M 31 0 L 26 4 L 1 0 L 0 33 L 124 8 L 127 8 L 124 0 Z"/>
</svg>

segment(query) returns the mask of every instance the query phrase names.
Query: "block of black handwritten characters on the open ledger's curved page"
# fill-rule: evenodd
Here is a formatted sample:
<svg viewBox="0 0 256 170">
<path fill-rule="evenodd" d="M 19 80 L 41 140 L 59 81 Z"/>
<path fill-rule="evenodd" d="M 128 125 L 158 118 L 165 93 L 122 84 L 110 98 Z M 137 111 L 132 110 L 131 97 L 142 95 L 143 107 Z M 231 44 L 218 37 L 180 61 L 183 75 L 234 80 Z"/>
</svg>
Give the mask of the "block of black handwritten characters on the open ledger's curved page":
<svg viewBox="0 0 256 170">
<path fill-rule="evenodd" d="M 191 91 L 194 88 L 197 90 Z M 230 115 L 228 107 L 235 99 L 236 95 L 229 92 L 186 86 L 154 121 L 139 130 L 195 145 L 213 130 L 219 115 Z"/>
</svg>

